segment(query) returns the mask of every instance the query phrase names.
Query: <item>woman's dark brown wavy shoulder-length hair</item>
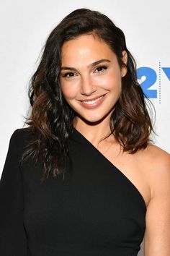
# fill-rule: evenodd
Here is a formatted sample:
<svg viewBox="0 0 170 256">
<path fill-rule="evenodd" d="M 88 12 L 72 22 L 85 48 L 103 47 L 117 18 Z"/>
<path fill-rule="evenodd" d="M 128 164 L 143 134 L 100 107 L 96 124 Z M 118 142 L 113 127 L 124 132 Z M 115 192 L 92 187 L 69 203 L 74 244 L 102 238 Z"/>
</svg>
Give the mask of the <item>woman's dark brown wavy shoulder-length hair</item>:
<svg viewBox="0 0 170 256">
<path fill-rule="evenodd" d="M 124 151 L 136 153 L 146 148 L 153 131 L 145 95 L 136 77 L 135 60 L 128 51 L 125 35 L 112 20 L 90 9 L 76 9 L 50 33 L 37 71 L 30 81 L 32 111 L 27 118 L 34 139 L 26 156 L 43 163 L 42 179 L 64 174 L 69 158 L 68 138 L 73 132 L 76 113 L 61 91 L 59 74 L 63 43 L 79 35 L 92 34 L 103 40 L 116 54 L 120 67 L 122 51 L 128 54 L 127 74 L 122 77 L 122 93 L 110 118 L 110 129 Z"/>
</svg>

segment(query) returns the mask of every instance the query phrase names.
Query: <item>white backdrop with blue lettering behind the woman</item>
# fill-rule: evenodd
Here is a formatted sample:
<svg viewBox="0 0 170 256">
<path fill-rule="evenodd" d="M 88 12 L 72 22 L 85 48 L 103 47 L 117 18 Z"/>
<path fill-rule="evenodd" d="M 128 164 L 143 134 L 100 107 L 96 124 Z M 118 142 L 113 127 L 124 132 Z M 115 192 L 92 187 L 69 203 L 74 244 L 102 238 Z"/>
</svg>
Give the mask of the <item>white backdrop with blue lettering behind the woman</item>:
<svg viewBox="0 0 170 256">
<path fill-rule="evenodd" d="M 73 9 L 82 7 L 107 14 L 124 31 L 142 75 L 140 82 L 146 85 L 146 93 L 156 94 L 151 99 L 156 108 L 156 145 L 170 153 L 169 5 L 169 0 L 1 1 L 0 176 L 9 138 L 14 129 L 23 127 L 27 116 L 27 87 L 40 50 L 53 27 Z"/>
</svg>

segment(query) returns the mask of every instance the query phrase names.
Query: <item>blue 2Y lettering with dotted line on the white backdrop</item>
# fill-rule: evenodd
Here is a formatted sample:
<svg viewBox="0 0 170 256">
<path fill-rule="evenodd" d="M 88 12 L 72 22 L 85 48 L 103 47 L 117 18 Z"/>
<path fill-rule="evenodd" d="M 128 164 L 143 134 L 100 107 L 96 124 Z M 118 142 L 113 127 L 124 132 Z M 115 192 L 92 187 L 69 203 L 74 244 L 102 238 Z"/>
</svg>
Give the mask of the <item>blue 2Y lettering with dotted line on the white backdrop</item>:
<svg viewBox="0 0 170 256">
<path fill-rule="evenodd" d="M 161 67 L 161 62 L 158 65 L 158 74 L 151 67 L 139 67 L 137 69 L 138 80 L 145 77 L 143 82 L 140 82 L 140 86 L 143 92 L 148 98 L 158 98 L 161 103 L 161 73 L 164 72 L 166 78 L 170 81 L 170 67 Z M 158 80 L 158 89 L 150 89 L 152 85 Z"/>
</svg>

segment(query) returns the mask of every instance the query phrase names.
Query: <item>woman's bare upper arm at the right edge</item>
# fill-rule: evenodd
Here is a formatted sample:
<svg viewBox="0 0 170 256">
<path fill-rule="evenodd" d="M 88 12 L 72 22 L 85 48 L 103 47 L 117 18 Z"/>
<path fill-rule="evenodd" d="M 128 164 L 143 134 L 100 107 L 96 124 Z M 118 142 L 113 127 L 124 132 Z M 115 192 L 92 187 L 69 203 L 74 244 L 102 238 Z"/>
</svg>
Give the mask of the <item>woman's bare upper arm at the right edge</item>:
<svg viewBox="0 0 170 256">
<path fill-rule="evenodd" d="M 170 252 L 170 156 L 154 163 L 151 200 L 146 213 L 145 255 L 168 256 Z"/>
</svg>

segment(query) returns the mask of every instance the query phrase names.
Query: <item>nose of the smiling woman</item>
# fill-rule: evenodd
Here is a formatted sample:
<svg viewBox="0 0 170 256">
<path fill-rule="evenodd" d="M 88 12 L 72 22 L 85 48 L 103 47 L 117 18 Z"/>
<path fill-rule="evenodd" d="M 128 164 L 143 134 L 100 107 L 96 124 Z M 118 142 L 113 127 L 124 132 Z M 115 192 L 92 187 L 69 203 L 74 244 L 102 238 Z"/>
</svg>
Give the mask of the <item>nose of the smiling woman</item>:
<svg viewBox="0 0 170 256">
<path fill-rule="evenodd" d="M 81 77 L 81 94 L 90 96 L 96 92 L 97 87 L 94 85 L 91 77 Z"/>
</svg>

